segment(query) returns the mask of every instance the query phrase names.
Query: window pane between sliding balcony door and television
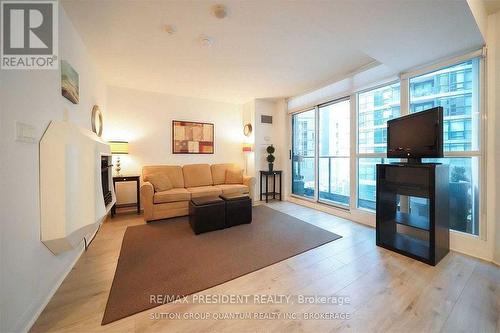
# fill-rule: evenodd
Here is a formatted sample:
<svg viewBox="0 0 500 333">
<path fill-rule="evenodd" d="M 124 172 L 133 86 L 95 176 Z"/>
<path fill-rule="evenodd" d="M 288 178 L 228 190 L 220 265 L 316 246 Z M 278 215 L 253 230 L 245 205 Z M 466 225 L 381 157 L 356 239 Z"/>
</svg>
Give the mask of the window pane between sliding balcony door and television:
<svg viewBox="0 0 500 333">
<path fill-rule="evenodd" d="M 400 116 L 400 84 L 358 93 L 358 207 L 375 210 L 376 165 L 387 162 L 387 120 Z"/>
</svg>

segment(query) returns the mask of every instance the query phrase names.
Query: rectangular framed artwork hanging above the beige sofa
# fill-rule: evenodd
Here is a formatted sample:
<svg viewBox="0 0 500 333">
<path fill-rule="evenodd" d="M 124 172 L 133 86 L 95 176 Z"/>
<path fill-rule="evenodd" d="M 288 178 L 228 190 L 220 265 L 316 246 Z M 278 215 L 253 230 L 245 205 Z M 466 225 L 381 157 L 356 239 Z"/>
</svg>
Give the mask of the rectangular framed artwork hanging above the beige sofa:
<svg viewBox="0 0 500 333">
<path fill-rule="evenodd" d="M 213 154 L 214 124 L 173 120 L 172 152 L 174 154 Z"/>
</svg>

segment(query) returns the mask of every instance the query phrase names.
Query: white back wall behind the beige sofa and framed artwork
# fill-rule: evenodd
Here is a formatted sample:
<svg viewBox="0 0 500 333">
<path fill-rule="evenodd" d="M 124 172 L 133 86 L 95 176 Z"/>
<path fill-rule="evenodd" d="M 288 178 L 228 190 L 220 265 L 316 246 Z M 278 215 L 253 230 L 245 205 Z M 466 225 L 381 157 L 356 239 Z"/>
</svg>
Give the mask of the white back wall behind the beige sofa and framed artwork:
<svg viewBox="0 0 500 333">
<path fill-rule="evenodd" d="M 237 104 L 180 97 L 120 87 L 107 89 L 104 138 L 129 142 L 122 174 L 141 174 L 143 165 L 237 163 L 244 167 L 242 107 Z M 172 120 L 215 124 L 215 153 L 172 154 Z M 117 187 L 118 203 L 135 201 L 135 184 Z"/>
</svg>

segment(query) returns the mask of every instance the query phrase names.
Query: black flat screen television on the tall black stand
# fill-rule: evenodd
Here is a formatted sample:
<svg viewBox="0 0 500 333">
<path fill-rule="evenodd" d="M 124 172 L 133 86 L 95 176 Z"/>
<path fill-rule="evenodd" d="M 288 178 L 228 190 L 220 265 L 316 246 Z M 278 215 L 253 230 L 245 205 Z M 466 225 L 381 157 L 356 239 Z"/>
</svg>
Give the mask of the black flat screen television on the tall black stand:
<svg viewBox="0 0 500 333">
<path fill-rule="evenodd" d="M 443 157 L 443 107 L 389 120 L 387 122 L 387 157 Z"/>
</svg>

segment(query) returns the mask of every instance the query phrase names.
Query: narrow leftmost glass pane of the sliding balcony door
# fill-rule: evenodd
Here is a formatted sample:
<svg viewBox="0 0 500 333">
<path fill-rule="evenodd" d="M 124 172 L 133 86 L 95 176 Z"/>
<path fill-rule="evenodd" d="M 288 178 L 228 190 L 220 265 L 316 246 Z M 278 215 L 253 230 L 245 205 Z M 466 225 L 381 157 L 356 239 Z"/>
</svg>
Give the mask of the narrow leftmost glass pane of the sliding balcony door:
<svg viewBox="0 0 500 333">
<path fill-rule="evenodd" d="M 314 198 L 316 188 L 316 109 L 292 116 L 292 193 Z"/>
</svg>

